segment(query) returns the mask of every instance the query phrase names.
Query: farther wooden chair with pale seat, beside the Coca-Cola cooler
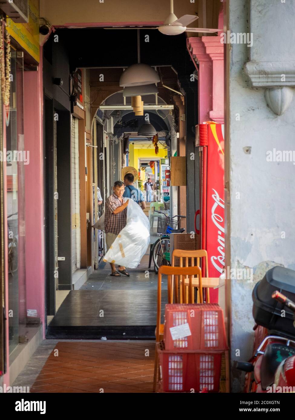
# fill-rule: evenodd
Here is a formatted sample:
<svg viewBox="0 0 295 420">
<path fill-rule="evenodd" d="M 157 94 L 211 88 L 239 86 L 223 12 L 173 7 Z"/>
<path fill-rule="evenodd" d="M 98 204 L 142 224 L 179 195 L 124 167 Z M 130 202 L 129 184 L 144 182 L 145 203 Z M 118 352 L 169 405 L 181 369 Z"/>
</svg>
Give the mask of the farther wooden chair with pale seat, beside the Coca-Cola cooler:
<svg viewBox="0 0 295 420">
<path fill-rule="evenodd" d="M 197 297 L 197 303 L 203 303 L 203 293 L 202 288 L 206 288 L 206 302 L 210 303 L 209 297 L 209 288 L 216 287 L 219 285 L 219 277 L 208 277 L 208 255 L 205 249 L 196 249 L 193 251 L 187 251 L 183 249 L 174 249 L 172 253 L 172 266 L 175 266 L 175 258 L 180 259 L 180 267 L 193 267 L 197 265 L 201 267 L 202 258 L 205 258 L 205 277 L 200 279 L 194 277 L 192 279 L 192 287 L 197 287 L 199 289 L 199 294 Z M 195 264 L 195 259 L 197 264 Z M 179 294 L 178 294 L 179 288 Z M 175 281 L 175 302 L 179 303 L 188 303 L 188 288 L 189 288 L 189 278 L 181 278 L 178 285 L 178 281 Z"/>
</svg>

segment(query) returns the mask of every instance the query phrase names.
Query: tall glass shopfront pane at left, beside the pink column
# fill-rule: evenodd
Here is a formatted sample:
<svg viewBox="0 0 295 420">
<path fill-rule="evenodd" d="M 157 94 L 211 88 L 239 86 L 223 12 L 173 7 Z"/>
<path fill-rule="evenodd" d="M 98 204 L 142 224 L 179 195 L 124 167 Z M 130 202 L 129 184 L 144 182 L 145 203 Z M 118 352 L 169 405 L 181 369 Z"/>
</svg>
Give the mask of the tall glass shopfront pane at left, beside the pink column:
<svg viewBox="0 0 295 420">
<path fill-rule="evenodd" d="M 11 52 L 11 95 L 6 114 L 6 183 L 8 229 L 8 304 L 9 352 L 25 340 L 26 275 L 25 275 L 25 197 L 24 165 L 24 84 L 23 53 Z M 18 159 L 18 157 L 23 159 Z M 26 157 L 26 159 L 24 159 Z"/>
</svg>

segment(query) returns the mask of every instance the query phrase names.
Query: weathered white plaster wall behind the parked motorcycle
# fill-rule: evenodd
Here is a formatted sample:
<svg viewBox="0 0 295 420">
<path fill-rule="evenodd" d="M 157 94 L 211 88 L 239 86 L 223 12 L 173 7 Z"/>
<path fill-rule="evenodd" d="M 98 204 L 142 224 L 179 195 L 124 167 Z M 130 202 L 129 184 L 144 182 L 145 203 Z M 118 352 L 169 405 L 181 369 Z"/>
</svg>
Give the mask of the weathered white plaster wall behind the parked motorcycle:
<svg viewBox="0 0 295 420">
<path fill-rule="evenodd" d="M 250 50 L 255 51 L 251 56 L 257 61 L 294 60 L 294 39 L 290 46 L 289 40 L 286 42 L 276 30 L 287 25 L 289 36 L 294 38 L 294 15 L 286 21 L 280 7 L 289 6 L 280 1 L 255 0 L 255 3 L 260 30 L 253 33 L 254 50 L 247 45 L 229 47 L 227 79 L 227 132 L 230 133 L 226 139 L 230 193 L 227 205 L 230 260 L 227 264 L 230 263 L 231 268 L 240 265 L 254 268 L 253 283 L 245 280 L 230 282 L 231 358 L 240 361 L 247 360 L 252 353 L 252 289 L 255 282 L 272 265 L 282 264 L 295 269 L 295 165 L 266 161 L 266 152 L 273 148 L 295 150 L 295 99 L 283 115 L 275 115 L 266 105 L 264 89 L 251 89 L 243 71 L 245 63 L 250 60 Z M 276 8 L 271 10 L 271 5 L 275 4 Z M 250 1 L 229 1 L 227 29 L 249 32 L 249 6 Z M 272 34 L 268 45 L 261 39 L 265 28 L 269 35 Z M 272 54 L 268 51 L 268 57 L 263 58 L 263 51 L 271 48 L 272 41 L 277 56 L 274 51 Z M 237 114 L 240 121 L 237 121 Z M 251 153 L 245 154 L 244 147 L 251 147 Z M 281 237 L 282 231 L 285 239 Z M 240 350 L 240 357 L 236 357 L 236 349 Z M 241 390 L 241 379 L 239 373 L 233 372 L 233 391 Z"/>
</svg>

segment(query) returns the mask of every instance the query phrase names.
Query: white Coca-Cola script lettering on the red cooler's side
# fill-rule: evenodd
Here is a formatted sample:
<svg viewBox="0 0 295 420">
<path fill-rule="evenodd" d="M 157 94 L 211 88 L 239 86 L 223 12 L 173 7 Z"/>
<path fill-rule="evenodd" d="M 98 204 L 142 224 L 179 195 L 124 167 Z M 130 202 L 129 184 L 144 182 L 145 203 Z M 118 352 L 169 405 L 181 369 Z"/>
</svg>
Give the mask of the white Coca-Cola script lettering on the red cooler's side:
<svg viewBox="0 0 295 420">
<path fill-rule="evenodd" d="M 211 209 L 211 219 L 217 228 L 217 244 L 219 244 L 216 248 L 216 255 L 211 257 L 211 262 L 214 268 L 219 271 L 219 273 L 223 273 L 224 267 L 224 200 L 219 197 L 218 192 L 213 189 L 212 198 L 214 200 L 214 204 Z"/>
</svg>

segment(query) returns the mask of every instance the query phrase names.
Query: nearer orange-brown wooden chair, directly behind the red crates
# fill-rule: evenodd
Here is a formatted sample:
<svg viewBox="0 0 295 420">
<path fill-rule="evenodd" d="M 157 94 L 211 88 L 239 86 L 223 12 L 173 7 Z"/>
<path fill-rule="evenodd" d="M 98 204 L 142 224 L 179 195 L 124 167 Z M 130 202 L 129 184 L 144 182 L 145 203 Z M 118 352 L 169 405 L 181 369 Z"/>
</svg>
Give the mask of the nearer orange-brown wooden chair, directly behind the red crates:
<svg viewBox="0 0 295 420">
<path fill-rule="evenodd" d="M 169 267 L 167 265 L 161 265 L 158 271 L 158 299 L 157 299 L 157 326 L 156 326 L 156 343 L 159 343 L 163 339 L 164 324 L 161 324 L 161 302 L 162 302 L 162 275 L 167 275 L 167 288 L 168 288 L 168 302 L 173 303 L 174 284 L 175 278 L 178 276 L 181 278 L 184 276 L 188 279 L 189 293 L 188 303 L 194 303 L 194 291 L 192 286 L 192 280 L 195 276 L 198 276 L 200 281 L 200 294 L 202 294 L 202 271 L 196 265 L 194 267 Z M 157 353 L 157 346 L 155 352 L 155 366 L 154 366 L 154 392 L 156 391 L 157 385 L 157 373 L 159 371 L 159 357 Z M 159 373 L 158 373 L 159 375 Z"/>
</svg>

